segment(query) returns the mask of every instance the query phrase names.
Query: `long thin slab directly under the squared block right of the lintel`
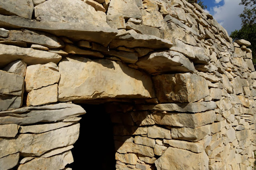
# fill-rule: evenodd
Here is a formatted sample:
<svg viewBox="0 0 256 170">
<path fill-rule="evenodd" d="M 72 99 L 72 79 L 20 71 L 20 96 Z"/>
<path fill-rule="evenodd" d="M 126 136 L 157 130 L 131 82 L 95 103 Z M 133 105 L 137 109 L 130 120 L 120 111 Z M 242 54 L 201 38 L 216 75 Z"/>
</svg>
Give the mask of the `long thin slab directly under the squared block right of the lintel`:
<svg viewBox="0 0 256 170">
<path fill-rule="evenodd" d="M 158 105 L 141 105 L 138 110 L 158 110 L 158 111 L 178 111 L 198 113 L 216 109 L 217 105 L 214 101 L 197 102 L 197 103 L 166 103 Z"/>
</svg>

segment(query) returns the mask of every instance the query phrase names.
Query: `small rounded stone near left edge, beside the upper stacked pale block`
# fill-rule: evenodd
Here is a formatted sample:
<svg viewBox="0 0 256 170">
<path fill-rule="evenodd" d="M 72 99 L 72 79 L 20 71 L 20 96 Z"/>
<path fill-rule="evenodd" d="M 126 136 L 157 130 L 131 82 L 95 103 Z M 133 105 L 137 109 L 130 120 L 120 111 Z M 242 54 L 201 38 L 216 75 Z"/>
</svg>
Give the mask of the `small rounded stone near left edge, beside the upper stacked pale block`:
<svg viewBox="0 0 256 170">
<path fill-rule="evenodd" d="M 22 77 L 25 77 L 26 69 L 27 69 L 27 64 L 22 60 L 17 60 L 6 65 L 6 67 L 4 67 L 3 70 L 9 73 L 14 73 Z"/>
</svg>

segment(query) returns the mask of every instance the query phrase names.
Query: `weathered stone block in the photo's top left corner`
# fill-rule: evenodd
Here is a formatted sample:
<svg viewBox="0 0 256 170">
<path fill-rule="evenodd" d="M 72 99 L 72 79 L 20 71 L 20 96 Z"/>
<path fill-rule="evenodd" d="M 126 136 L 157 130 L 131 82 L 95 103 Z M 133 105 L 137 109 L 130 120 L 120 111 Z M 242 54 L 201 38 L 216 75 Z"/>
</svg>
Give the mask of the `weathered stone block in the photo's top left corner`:
<svg viewBox="0 0 256 170">
<path fill-rule="evenodd" d="M 0 2 L 0 14 L 32 18 L 34 5 L 32 0 L 4 0 Z"/>
</svg>

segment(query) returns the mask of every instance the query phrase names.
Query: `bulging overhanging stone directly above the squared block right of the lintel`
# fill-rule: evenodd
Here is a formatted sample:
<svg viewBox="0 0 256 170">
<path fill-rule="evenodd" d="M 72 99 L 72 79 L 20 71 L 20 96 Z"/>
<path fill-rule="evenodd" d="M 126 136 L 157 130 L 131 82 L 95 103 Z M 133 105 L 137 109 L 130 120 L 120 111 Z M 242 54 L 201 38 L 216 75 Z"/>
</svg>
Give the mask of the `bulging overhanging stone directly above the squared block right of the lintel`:
<svg viewBox="0 0 256 170">
<path fill-rule="evenodd" d="M 136 65 L 150 74 L 164 72 L 193 73 L 195 71 L 194 64 L 184 55 L 175 51 L 152 53 L 149 56 L 140 57 Z"/>
</svg>

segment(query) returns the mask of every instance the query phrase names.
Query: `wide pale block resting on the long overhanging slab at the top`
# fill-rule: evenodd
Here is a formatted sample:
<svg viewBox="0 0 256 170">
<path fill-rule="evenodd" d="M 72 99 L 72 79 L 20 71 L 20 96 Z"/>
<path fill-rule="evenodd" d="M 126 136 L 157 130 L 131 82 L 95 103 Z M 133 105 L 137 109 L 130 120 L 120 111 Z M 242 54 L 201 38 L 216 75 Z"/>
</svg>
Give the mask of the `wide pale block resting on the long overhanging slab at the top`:
<svg viewBox="0 0 256 170">
<path fill-rule="evenodd" d="M 108 27 L 106 14 L 102 11 L 96 11 L 81 0 L 48 0 L 36 6 L 34 10 L 35 17 L 40 21 L 82 22 Z"/>
</svg>

